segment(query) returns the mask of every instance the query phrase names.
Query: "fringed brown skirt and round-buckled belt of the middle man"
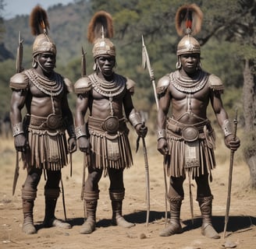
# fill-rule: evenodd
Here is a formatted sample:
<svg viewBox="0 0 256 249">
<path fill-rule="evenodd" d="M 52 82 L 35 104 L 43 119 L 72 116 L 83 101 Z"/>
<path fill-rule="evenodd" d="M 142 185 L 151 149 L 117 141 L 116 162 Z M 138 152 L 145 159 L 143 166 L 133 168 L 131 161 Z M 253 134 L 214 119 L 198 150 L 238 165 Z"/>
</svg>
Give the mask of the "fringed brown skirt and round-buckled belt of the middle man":
<svg viewBox="0 0 256 249">
<path fill-rule="evenodd" d="M 91 143 L 91 162 L 98 169 L 129 168 L 133 157 L 128 139 L 129 129 L 125 119 L 108 117 L 105 120 L 89 117 L 88 128 Z"/>
</svg>

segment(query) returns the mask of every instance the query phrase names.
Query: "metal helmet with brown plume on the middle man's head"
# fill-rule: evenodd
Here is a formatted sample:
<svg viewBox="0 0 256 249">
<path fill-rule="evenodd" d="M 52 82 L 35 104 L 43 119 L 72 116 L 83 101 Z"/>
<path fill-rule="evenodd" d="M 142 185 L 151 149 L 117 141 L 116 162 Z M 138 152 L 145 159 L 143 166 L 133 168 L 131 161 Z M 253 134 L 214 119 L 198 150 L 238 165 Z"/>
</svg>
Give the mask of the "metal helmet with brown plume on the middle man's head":
<svg viewBox="0 0 256 249">
<path fill-rule="evenodd" d="M 116 48 L 109 40 L 114 35 L 112 16 L 105 11 L 94 14 L 88 26 L 87 38 L 94 44 L 94 59 L 102 55 L 116 56 Z"/>
</svg>

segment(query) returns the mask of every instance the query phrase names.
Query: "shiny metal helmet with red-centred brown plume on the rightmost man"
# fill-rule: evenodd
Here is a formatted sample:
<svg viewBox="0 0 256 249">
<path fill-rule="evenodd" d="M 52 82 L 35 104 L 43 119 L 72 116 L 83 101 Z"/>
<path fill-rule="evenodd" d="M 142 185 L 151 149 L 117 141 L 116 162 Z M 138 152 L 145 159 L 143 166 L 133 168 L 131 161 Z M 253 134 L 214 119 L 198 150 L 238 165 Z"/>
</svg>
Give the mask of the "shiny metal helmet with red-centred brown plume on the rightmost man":
<svg viewBox="0 0 256 249">
<path fill-rule="evenodd" d="M 200 54 L 200 44 L 192 37 L 201 31 L 203 12 L 196 4 L 183 5 L 175 17 L 176 31 L 180 36 L 185 35 L 177 47 L 177 55 Z"/>
</svg>

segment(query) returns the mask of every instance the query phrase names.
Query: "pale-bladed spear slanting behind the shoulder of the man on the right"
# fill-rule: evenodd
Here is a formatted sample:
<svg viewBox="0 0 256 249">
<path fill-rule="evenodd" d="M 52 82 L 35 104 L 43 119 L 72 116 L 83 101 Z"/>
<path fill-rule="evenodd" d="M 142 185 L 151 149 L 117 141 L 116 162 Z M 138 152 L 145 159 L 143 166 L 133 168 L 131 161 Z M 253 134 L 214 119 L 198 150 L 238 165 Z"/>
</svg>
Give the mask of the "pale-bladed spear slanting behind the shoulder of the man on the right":
<svg viewBox="0 0 256 249">
<path fill-rule="evenodd" d="M 157 106 L 157 110 L 159 110 L 158 96 L 157 96 L 156 89 L 155 89 L 154 70 L 151 68 L 147 47 L 144 44 L 144 37 L 142 35 L 142 67 L 145 69 L 146 66 L 148 67 L 148 73 L 150 75 L 151 83 L 152 83 L 152 86 L 154 89 L 155 103 Z M 165 158 L 165 160 L 166 160 L 166 158 Z M 165 178 L 165 225 L 166 225 L 166 223 L 167 223 L 167 182 L 166 182 L 166 172 L 165 172 L 165 160 L 163 163 L 163 171 L 164 171 L 164 178 Z"/>
</svg>

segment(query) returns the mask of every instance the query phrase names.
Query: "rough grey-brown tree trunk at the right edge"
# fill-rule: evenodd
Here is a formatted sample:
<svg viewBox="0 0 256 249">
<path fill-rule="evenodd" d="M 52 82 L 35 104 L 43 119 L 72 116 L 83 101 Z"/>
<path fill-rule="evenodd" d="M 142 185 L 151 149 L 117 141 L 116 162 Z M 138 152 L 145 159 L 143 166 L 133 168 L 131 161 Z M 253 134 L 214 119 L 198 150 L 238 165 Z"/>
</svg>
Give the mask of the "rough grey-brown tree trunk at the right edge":
<svg viewBox="0 0 256 249">
<path fill-rule="evenodd" d="M 244 63 L 244 157 L 250 167 L 251 187 L 256 188 L 256 102 L 254 61 L 245 59 Z"/>
</svg>

